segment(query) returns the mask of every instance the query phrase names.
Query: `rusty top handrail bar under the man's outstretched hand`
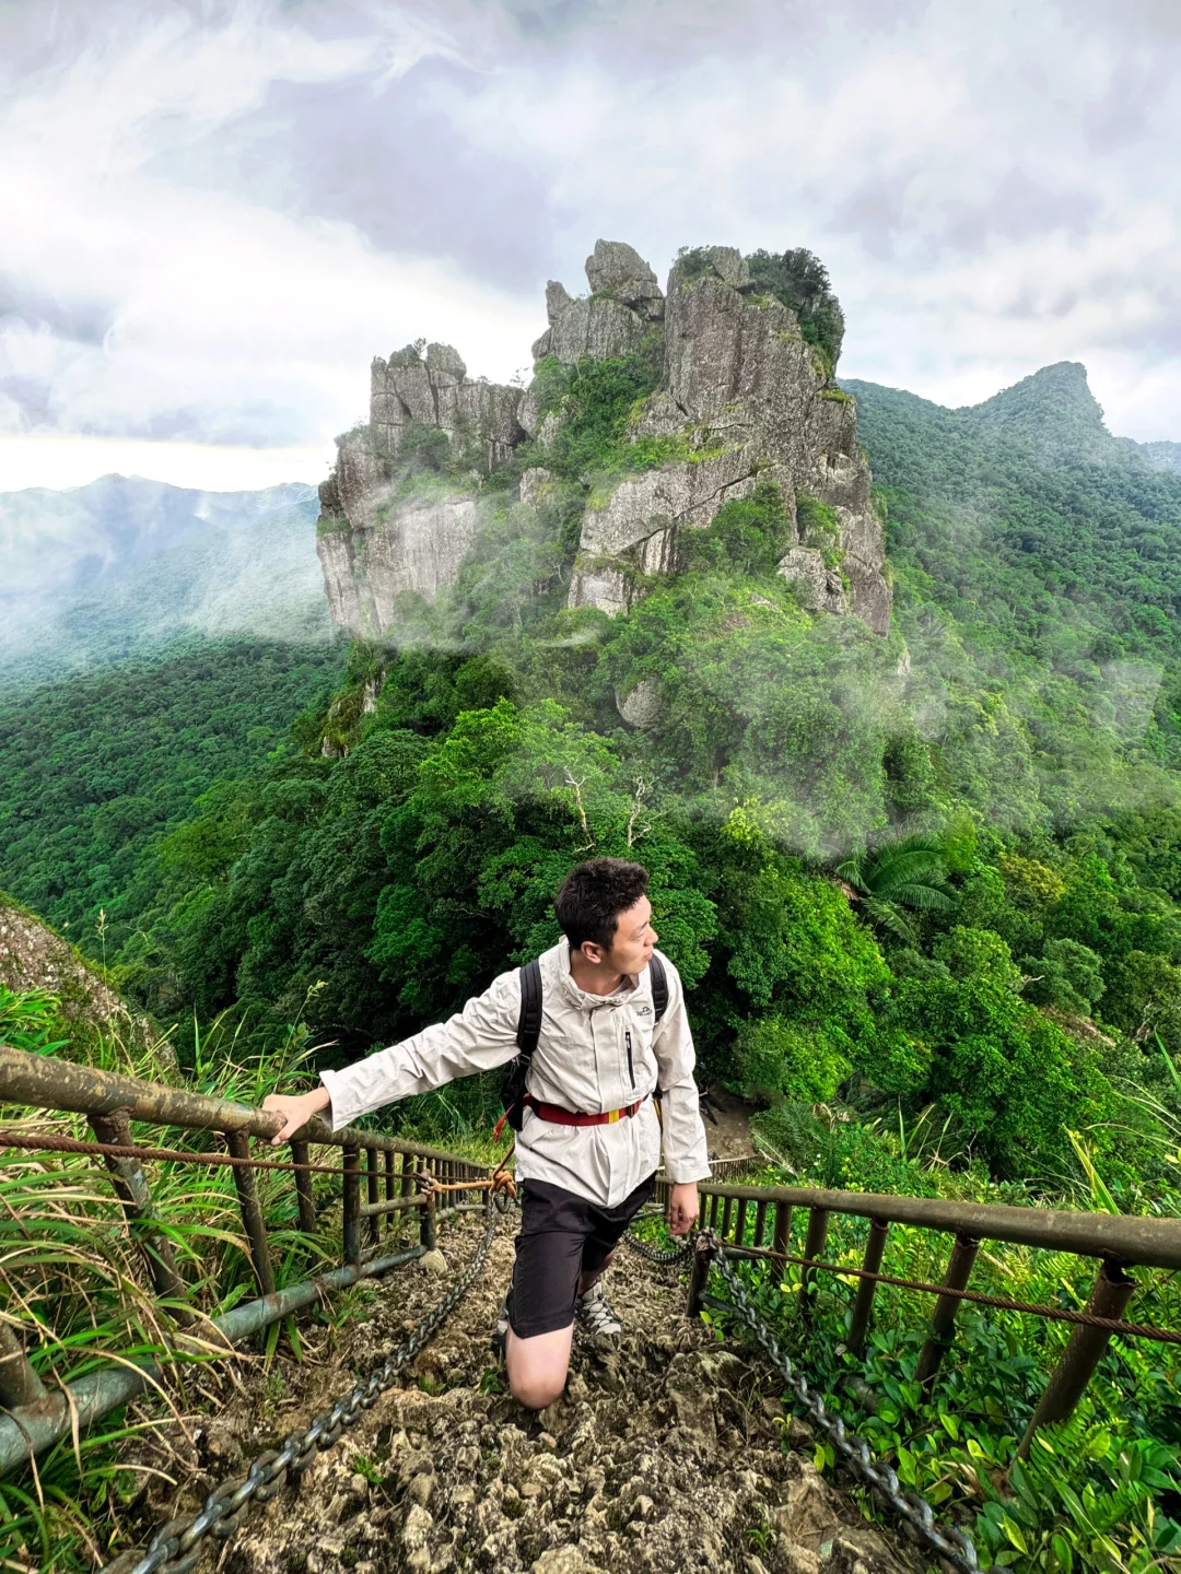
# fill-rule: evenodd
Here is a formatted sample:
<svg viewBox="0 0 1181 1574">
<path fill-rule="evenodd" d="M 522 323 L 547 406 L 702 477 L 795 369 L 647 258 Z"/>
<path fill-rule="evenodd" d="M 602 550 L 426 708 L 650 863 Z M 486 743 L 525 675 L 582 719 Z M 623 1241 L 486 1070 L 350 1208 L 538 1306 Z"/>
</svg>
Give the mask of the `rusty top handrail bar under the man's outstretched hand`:
<svg viewBox="0 0 1181 1574">
<path fill-rule="evenodd" d="M 189 1088 L 167 1088 L 164 1083 L 142 1081 L 121 1072 L 102 1072 L 94 1066 L 60 1061 L 52 1055 L 30 1055 L 8 1044 L 0 1044 L 0 1103 L 25 1103 L 38 1110 L 68 1110 L 87 1116 L 124 1110 L 129 1121 L 227 1135 L 247 1132 L 252 1136 L 274 1136 L 283 1125 L 282 1116 L 238 1103 L 236 1099 L 213 1099 Z M 441 1147 L 406 1143 L 378 1132 L 361 1132 L 353 1125 L 334 1132 L 320 1116 L 313 1116 L 299 1130 L 298 1138 L 331 1147 L 378 1147 L 383 1152 L 411 1154 L 416 1158 L 471 1165 L 482 1174 L 488 1173 L 487 1165 Z"/>
</svg>

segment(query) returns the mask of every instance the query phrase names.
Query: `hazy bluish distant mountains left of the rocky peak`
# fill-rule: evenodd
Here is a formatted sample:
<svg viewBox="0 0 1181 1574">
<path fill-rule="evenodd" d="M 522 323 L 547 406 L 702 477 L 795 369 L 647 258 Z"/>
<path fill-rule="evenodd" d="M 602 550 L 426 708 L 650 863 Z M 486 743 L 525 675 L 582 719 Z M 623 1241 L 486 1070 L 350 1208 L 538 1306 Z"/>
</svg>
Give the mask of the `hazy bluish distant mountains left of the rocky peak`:
<svg viewBox="0 0 1181 1574">
<path fill-rule="evenodd" d="M 0 680 L 150 655 L 192 636 L 324 641 L 318 497 L 140 477 L 0 494 Z"/>
</svg>

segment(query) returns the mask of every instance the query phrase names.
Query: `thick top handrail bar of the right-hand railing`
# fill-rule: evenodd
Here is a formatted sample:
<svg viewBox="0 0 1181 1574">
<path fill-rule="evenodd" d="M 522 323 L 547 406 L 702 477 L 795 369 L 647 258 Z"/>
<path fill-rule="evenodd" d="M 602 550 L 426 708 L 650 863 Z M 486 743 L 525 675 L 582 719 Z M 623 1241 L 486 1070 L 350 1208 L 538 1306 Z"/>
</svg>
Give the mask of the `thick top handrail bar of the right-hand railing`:
<svg viewBox="0 0 1181 1574">
<path fill-rule="evenodd" d="M 1009 1207 L 1001 1203 L 954 1203 L 934 1196 L 893 1196 L 874 1192 L 822 1192 L 811 1187 L 723 1185 L 702 1180 L 702 1196 L 746 1198 L 822 1207 L 853 1218 L 882 1218 L 891 1225 L 915 1225 L 1006 1240 L 1017 1247 L 1072 1251 L 1083 1258 L 1113 1258 L 1153 1269 L 1181 1269 L 1181 1220 L 1135 1218 L 1127 1214 L 1066 1214 L 1049 1207 Z"/>
</svg>

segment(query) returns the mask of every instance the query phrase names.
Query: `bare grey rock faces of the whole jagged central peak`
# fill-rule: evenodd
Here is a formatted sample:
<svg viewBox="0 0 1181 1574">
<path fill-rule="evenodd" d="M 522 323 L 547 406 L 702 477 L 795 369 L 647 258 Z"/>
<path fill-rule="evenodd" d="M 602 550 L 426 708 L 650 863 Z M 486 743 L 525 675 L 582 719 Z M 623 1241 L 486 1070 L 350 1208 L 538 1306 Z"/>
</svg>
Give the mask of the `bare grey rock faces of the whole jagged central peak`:
<svg viewBox="0 0 1181 1574">
<path fill-rule="evenodd" d="M 657 389 L 633 411 L 628 442 L 668 439 L 674 455 L 597 485 L 583 515 L 570 606 L 625 611 L 653 573 L 683 567 L 685 532 L 705 527 L 756 482 L 776 482 L 797 523 L 781 573 L 806 604 L 890 626 L 882 529 L 869 505 L 869 467 L 857 442 L 857 406 L 800 332 L 797 313 L 751 279 L 731 247 L 680 260 L 668 293 L 630 247 L 598 241 L 586 264 L 590 294 L 546 288 L 550 326 L 534 359 L 573 364 L 650 348 L 661 338 Z M 400 592 L 433 600 L 455 579 L 479 523 L 482 477 L 529 442 L 520 477 L 526 504 L 553 482 L 546 449 L 564 411 L 529 390 L 469 381 L 446 345 L 373 362 L 370 425 L 339 439 L 321 488 L 320 557 L 334 620 L 379 633 Z M 463 452 L 471 485 L 406 496 L 397 458 L 422 433 Z M 518 461 L 520 463 L 520 461 Z M 454 466 L 452 466 L 454 471 Z M 819 505 L 819 507 L 817 507 Z M 824 526 L 817 529 L 817 521 Z"/>
</svg>

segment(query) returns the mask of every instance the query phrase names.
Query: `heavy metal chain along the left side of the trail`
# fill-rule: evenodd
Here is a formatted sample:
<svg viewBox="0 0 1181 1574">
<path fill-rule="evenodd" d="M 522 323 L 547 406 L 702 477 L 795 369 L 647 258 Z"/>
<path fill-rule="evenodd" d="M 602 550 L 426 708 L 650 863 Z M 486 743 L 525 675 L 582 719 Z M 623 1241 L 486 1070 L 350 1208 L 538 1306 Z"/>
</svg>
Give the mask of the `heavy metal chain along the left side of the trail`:
<svg viewBox="0 0 1181 1574">
<path fill-rule="evenodd" d="M 318 1453 L 337 1442 L 346 1426 L 357 1421 L 362 1410 L 372 1410 L 402 1368 L 425 1350 L 479 1278 L 499 1220 L 499 1207 L 490 1207 L 487 1229 L 469 1265 L 419 1322 L 414 1333 L 376 1371 L 359 1382 L 351 1393 L 342 1395 L 331 1410 L 321 1410 L 305 1432 L 293 1432 L 280 1450 L 260 1454 L 244 1476 L 230 1478 L 214 1487 L 198 1514 L 184 1514 L 162 1525 L 139 1561 L 129 1563 L 134 1554 L 123 1554 L 109 1563 L 102 1574 L 189 1574 L 203 1552 L 205 1536 L 227 1541 L 242 1522 L 250 1502 L 265 1503 L 285 1484 L 288 1475 L 305 1470 Z"/>
</svg>

